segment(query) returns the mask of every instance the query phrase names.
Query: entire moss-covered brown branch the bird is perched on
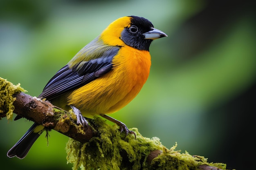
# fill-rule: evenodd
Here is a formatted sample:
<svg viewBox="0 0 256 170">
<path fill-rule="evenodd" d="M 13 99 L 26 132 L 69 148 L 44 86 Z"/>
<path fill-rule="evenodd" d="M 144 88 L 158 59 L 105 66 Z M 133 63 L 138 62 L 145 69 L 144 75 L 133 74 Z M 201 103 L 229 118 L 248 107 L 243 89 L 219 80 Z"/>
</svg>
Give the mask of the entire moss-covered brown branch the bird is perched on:
<svg viewBox="0 0 256 170">
<path fill-rule="evenodd" d="M 54 129 L 70 137 L 66 150 L 67 161 L 73 163 L 73 170 L 115 169 L 115 170 L 221 170 L 224 163 L 208 163 L 202 156 L 180 153 L 175 146 L 164 147 L 157 137 L 141 136 L 136 128 L 137 138 L 128 135 L 122 139 L 117 125 L 110 126 L 101 118 L 88 119 L 85 130 L 75 123 L 72 112 L 53 106 L 50 102 L 31 97 L 18 84 L 14 86 L 0 77 L 0 118 L 12 119 L 12 113 L 25 117 L 47 129 Z"/>
</svg>

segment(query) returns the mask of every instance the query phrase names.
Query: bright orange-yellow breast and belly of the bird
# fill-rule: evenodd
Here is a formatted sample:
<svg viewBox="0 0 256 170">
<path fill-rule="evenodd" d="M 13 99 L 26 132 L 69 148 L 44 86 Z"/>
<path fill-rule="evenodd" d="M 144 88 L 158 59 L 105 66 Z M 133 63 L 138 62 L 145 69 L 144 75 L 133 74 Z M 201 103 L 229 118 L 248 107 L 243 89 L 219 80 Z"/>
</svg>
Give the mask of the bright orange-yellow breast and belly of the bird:
<svg viewBox="0 0 256 170">
<path fill-rule="evenodd" d="M 76 106 L 85 117 L 114 113 L 126 106 L 148 78 L 150 54 L 124 46 L 112 63 L 112 71 L 70 93 L 68 105 Z"/>
</svg>

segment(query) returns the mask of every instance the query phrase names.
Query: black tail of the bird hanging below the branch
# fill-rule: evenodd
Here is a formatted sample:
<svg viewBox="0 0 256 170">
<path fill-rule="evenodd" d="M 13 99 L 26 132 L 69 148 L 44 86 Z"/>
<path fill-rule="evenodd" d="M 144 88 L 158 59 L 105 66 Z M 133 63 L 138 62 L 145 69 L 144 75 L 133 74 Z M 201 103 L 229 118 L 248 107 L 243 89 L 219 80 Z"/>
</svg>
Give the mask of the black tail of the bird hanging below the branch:
<svg viewBox="0 0 256 170">
<path fill-rule="evenodd" d="M 7 152 L 7 157 L 18 157 L 19 159 L 25 158 L 31 146 L 42 134 L 43 128 L 44 127 L 42 125 L 34 123 L 25 133 L 25 135 L 23 135 L 20 140 Z"/>
</svg>

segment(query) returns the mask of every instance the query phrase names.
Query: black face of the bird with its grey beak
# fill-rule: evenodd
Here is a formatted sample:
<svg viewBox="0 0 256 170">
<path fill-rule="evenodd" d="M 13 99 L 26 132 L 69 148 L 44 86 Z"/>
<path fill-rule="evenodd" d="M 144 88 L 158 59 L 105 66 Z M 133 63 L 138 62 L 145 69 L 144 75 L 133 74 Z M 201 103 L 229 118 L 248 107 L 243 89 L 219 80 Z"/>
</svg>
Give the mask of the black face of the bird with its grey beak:
<svg viewBox="0 0 256 170">
<path fill-rule="evenodd" d="M 149 51 L 151 42 L 167 36 L 162 31 L 154 29 L 153 24 L 143 17 L 130 16 L 130 26 L 121 32 L 121 40 L 135 49 Z"/>
</svg>

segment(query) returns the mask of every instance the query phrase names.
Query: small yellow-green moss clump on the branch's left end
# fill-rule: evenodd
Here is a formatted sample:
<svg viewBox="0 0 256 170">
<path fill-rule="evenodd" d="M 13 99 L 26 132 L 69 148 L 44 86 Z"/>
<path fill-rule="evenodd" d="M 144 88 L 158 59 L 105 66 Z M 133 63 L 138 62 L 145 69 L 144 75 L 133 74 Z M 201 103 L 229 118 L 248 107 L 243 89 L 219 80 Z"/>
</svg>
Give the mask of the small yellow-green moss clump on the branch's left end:
<svg viewBox="0 0 256 170">
<path fill-rule="evenodd" d="M 6 79 L 0 77 L 0 115 L 1 117 L 6 116 L 7 120 L 11 120 L 13 117 L 13 102 L 16 100 L 13 97 L 14 94 L 26 92 L 20 84 L 13 85 Z M 5 114 L 5 115 L 3 115 Z"/>
</svg>

